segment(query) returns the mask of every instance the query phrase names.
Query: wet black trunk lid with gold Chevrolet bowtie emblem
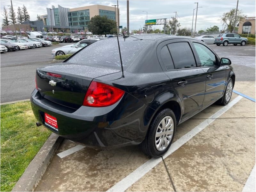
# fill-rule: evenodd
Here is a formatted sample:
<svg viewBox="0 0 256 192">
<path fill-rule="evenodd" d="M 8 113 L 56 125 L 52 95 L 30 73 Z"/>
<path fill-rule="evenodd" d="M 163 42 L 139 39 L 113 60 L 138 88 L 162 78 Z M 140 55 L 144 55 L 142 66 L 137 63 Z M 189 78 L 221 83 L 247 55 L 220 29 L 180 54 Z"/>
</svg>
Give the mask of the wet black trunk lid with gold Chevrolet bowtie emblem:
<svg viewBox="0 0 256 192">
<path fill-rule="evenodd" d="M 76 64 L 56 64 L 36 69 L 36 89 L 44 99 L 77 109 L 96 77 L 120 70 Z"/>
</svg>

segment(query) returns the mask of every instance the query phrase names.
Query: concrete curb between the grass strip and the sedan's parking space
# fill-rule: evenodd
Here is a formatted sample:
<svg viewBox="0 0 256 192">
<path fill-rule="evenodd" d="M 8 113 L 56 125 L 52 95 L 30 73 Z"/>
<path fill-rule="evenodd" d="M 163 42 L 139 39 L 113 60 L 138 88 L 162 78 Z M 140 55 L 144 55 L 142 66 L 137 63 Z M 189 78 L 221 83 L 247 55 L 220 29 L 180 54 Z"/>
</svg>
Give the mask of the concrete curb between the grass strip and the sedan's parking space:
<svg viewBox="0 0 256 192">
<path fill-rule="evenodd" d="M 63 138 L 55 133 L 50 135 L 12 191 L 34 191 L 36 189 L 62 140 Z"/>
</svg>

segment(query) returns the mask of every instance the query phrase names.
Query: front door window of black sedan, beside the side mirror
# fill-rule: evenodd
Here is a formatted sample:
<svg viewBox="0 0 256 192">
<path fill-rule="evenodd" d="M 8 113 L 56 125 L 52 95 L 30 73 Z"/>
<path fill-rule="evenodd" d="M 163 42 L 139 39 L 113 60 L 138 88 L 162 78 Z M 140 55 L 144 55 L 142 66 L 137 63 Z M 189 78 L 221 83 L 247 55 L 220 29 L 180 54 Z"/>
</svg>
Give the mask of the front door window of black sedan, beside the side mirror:
<svg viewBox="0 0 256 192">
<path fill-rule="evenodd" d="M 197 55 L 199 56 L 200 65 L 202 67 L 205 66 L 214 66 L 217 65 L 216 63 L 216 57 L 215 55 L 202 44 L 199 43 L 193 43 L 197 52 Z"/>
</svg>

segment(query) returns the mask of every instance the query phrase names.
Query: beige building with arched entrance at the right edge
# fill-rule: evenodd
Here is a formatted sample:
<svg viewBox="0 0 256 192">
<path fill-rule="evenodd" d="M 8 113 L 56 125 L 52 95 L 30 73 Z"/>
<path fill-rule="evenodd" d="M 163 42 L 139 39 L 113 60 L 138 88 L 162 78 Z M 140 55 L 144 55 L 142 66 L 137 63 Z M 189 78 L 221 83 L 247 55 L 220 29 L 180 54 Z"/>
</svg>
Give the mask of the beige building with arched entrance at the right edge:
<svg viewBox="0 0 256 192">
<path fill-rule="evenodd" d="M 244 17 L 239 21 L 238 33 L 255 34 L 255 17 Z"/>
</svg>

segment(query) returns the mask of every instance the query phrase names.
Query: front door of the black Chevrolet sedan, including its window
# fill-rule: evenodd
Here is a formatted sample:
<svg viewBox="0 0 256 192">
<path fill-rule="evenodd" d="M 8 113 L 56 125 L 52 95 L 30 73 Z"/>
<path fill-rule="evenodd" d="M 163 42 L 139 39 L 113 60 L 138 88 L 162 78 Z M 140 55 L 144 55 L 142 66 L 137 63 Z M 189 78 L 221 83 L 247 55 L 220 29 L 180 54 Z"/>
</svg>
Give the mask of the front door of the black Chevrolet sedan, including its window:
<svg viewBox="0 0 256 192">
<path fill-rule="evenodd" d="M 220 59 L 204 44 L 191 40 L 204 70 L 205 96 L 203 108 L 211 105 L 224 94 L 226 84 L 226 67 L 220 66 Z"/>
</svg>

